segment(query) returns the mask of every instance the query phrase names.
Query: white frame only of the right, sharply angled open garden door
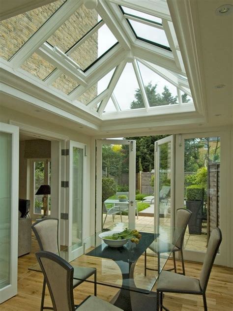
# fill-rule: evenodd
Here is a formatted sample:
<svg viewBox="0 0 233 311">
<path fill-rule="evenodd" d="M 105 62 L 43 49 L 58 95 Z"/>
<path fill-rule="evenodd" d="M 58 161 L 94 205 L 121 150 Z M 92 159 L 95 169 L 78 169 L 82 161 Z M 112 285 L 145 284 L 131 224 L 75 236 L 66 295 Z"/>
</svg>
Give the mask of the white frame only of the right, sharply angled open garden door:
<svg viewBox="0 0 233 311">
<path fill-rule="evenodd" d="M 154 225 L 159 225 L 159 146 L 171 142 L 171 226 L 175 226 L 175 135 L 157 140 L 154 143 Z"/>
</svg>

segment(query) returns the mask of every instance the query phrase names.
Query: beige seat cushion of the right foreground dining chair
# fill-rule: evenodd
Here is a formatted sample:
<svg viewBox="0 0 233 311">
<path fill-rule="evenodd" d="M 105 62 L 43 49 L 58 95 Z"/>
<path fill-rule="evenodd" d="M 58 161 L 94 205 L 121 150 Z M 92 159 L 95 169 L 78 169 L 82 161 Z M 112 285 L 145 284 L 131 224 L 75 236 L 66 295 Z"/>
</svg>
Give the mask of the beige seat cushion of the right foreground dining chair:
<svg viewBox="0 0 233 311">
<path fill-rule="evenodd" d="M 157 285 L 161 291 L 201 292 L 199 280 L 177 273 L 162 271 Z"/>
</svg>

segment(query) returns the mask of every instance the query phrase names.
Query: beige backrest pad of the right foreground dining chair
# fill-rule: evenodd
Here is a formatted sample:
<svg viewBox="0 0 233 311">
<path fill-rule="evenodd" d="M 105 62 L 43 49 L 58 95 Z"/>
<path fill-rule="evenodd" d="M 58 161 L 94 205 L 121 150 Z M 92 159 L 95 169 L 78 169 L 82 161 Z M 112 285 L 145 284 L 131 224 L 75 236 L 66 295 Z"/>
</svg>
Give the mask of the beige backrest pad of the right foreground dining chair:
<svg viewBox="0 0 233 311">
<path fill-rule="evenodd" d="M 219 228 L 213 229 L 209 237 L 208 246 L 204 257 L 204 263 L 200 274 L 200 286 L 203 291 L 206 290 L 209 275 L 221 242 L 222 242 L 221 230 Z"/>
</svg>

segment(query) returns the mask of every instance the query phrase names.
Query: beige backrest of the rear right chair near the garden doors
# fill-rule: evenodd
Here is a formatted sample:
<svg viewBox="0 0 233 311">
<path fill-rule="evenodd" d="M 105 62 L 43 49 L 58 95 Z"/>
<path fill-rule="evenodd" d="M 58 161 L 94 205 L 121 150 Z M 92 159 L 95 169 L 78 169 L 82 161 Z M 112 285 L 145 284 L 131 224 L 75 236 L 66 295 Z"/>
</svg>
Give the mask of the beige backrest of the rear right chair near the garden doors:
<svg viewBox="0 0 233 311">
<path fill-rule="evenodd" d="M 182 233 L 180 234 L 180 231 L 177 230 L 177 234 L 179 234 L 179 238 L 177 239 L 176 235 L 174 236 L 174 245 L 178 248 L 181 249 L 183 246 L 183 241 L 184 241 L 184 234 L 189 222 L 189 219 L 192 215 L 192 212 L 189 211 L 188 209 L 178 209 L 176 211 L 176 219 L 175 219 L 175 227 L 177 228 L 183 228 Z"/>
</svg>

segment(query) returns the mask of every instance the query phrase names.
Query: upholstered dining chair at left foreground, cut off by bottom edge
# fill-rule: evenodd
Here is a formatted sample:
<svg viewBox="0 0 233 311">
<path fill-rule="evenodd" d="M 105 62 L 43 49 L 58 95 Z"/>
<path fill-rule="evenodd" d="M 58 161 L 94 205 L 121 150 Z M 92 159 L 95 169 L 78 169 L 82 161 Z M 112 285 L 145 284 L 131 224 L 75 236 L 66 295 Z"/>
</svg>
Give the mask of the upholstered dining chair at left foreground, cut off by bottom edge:
<svg viewBox="0 0 233 311">
<path fill-rule="evenodd" d="M 44 278 L 49 288 L 54 311 L 120 311 L 110 303 L 95 296 L 89 296 L 75 306 L 73 296 L 74 267 L 58 255 L 49 251 L 36 254 Z"/>
</svg>

